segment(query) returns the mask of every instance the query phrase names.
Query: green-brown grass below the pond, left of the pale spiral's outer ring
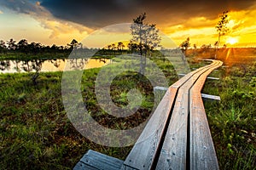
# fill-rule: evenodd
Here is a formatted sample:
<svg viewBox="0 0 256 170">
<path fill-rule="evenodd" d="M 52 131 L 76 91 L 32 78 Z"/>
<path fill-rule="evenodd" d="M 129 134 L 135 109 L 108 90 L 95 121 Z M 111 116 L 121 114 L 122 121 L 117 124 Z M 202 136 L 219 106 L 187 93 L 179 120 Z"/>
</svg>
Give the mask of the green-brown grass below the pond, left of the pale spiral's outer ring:
<svg viewBox="0 0 256 170">
<path fill-rule="evenodd" d="M 97 69 L 84 72 L 93 86 Z M 80 135 L 61 101 L 61 72 L 0 75 L 0 169 L 71 169 L 89 150 L 125 158 L 127 148 L 108 148 Z M 95 104 L 95 99 L 90 99 Z"/>
</svg>

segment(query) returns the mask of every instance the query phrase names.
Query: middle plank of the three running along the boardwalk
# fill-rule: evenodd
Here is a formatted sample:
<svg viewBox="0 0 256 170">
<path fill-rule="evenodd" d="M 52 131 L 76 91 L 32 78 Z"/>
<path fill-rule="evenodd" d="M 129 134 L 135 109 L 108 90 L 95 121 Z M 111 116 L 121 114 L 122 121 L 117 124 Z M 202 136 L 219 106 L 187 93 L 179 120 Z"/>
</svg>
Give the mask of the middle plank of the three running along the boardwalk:
<svg viewBox="0 0 256 170">
<path fill-rule="evenodd" d="M 187 130 L 189 116 L 189 88 L 205 71 L 216 65 L 204 67 L 185 82 L 178 91 L 170 126 L 162 146 L 156 169 L 186 169 L 187 165 Z"/>
</svg>

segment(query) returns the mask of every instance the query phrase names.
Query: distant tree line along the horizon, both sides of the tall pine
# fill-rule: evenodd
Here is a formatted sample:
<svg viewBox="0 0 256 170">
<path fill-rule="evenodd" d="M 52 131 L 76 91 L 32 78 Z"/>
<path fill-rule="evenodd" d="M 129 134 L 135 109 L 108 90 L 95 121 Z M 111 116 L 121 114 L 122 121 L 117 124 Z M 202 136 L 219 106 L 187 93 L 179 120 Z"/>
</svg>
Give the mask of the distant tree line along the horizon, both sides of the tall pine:
<svg viewBox="0 0 256 170">
<path fill-rule="evenodd" d="M 103 48 L 86 48 L 82 42 L 78 42 L 73 39 L 66 46 L 45 46 L 40 42 L 28 42 L 26 39 L 21 39 L 16 42 L 13 38 L 9 41 L 0 40 L 0 60 L 6 59 L 20 59 L 20 60 L 31 60 L 31 59 L 67 59 L 70 57 L 71 52 L 78 51 L 80 54 L 91 54 L 92 58 L 113 58 L 116 54 L 133 54 L 137 53 L 136 43 L 127 43 L 125 46 L 124 42 L 117 42 L 108 44 Z M 189 43 L 189 37 L 182 42 L 179 47 L 183 54 L 187 57 L 201 56 L 211 58 L 215 54 L 215 45 L 202 44 L 201 47 L 193 46 Z M 164 48 L 162 48 L 164 49 Z M 235 49 L 235 48 L 234 48 Z M 223 53 L 224 52 L 224 53 Z M 222 48 L 218 48 L 218 53 L 226 55 L 227 47 L 224 45 Z M 244 55 L 255 55 L 256 48 L 236 48 L 236 54 Z M 79 55 L 77 54 L 76 57 Z M 221 56 L 220 58 L 223 58 Z M 78 57 L 79 58 L 79 57 Z"/>
</svg>

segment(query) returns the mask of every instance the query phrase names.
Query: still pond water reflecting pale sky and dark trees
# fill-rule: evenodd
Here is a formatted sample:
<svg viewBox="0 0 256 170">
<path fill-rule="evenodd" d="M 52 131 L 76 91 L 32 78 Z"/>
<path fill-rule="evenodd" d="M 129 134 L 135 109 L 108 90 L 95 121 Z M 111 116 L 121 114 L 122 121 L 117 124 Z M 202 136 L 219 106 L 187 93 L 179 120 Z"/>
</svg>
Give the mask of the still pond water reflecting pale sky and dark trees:
<svg viewBox="0 0 256 170">
<path fill-rule="evenodd" d="M 102 67 L 111 59 L 32 59 L 0 61 L 0 73 L 85 70 Z"/>
</svg>

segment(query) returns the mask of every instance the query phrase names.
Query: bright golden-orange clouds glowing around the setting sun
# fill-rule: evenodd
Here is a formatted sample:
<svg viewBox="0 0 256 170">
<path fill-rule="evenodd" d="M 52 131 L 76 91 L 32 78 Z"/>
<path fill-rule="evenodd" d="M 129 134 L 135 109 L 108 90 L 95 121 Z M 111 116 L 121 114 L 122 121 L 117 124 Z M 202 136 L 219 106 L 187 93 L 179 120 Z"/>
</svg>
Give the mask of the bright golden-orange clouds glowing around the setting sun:
<svg viewBox="0 0 256 170">
<path fill-rule="evenodd" d="M 235 38 L 237 42 L 233 46 L 255 46 L 256 45 L 256 6 L 247 10 L 230 11 L 230 31 L 221 37 L 221 43 L 230 42 L 230 38 Z M 218 40 L 218 32 L 215 26 L 218 23 L 218 16 L 208 20 L 205 17 L 191 17 L 182 24 L 160 28 L 171 37 L 177 44 L 190 37 L 191 44 L 214 44 Z M 231 45 L 231 43 L 230 43 Z"/>
</svg>

